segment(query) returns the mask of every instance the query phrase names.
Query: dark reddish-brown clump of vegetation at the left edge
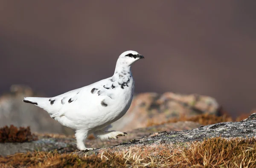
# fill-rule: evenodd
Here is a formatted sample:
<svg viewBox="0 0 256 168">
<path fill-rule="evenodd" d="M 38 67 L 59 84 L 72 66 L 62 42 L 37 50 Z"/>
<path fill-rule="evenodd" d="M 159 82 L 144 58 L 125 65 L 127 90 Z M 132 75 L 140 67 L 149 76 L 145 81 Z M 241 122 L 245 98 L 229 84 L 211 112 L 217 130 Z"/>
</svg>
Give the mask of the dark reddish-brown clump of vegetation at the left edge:
<svg viewBox="0 0 256 168">
<path fill-rule="evenodd" d="M 37 140 L 37 136 L 31 133 L 30 127 L 20 127 L 13 125 L 0 128 L 0 143 L 5 142 L 30 142 Z"/>
</svg>

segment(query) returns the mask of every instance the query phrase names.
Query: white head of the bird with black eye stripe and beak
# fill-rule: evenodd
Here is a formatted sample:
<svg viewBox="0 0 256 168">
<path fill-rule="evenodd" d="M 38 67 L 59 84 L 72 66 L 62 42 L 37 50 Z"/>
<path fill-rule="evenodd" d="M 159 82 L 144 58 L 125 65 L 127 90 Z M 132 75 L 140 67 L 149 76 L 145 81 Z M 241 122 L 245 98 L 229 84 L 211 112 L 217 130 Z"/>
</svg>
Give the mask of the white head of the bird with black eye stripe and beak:
<svg viewBox="0 0 256 168">
<path fill-rule="evenodd" d="M 133 64 L 134 62 L 140 60 L 140 59 L 143 59 L 143 55 L 140 55 L 138 52 L 136 51 L 125 51 L 123 52 L 117 62 L 119 64 L 121 64 L 122 66 L 131 66 L 131 64 Z"/>
</svg>

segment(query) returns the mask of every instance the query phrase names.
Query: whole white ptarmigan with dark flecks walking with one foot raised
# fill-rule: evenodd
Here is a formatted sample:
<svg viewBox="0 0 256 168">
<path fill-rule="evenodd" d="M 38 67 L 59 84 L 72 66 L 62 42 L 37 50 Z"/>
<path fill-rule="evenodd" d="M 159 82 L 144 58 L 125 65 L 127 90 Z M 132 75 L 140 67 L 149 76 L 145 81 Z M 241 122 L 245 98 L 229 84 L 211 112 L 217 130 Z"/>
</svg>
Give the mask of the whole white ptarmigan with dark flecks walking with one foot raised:
<svg viewBox="0 0 256 168">
<path fill-rule="evenodd" d="M 43 108 L 53 119 L 76 130 L 79 150 L 92 150 L 84 145 L 90 133 L 100 139 L 117 139 L 127 134 L 108 129 L 131 105 L 134 93 L 131 64 L 142 58 L 143 55 L 135 51 L 123 52 L 110 78 L 52 98 L 25 97 L 23 101 Z"/>
</svg>

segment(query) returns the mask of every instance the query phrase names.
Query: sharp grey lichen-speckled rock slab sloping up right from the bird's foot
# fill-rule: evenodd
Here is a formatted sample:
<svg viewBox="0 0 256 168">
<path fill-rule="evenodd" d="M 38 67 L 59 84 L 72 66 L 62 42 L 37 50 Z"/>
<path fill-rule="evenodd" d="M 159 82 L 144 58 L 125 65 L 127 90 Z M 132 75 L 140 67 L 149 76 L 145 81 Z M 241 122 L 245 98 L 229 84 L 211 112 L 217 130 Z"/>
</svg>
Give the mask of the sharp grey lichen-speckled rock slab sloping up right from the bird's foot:
<svg viewBox="0 0 256 168">
<path fill-rule="evenodd" d="M 253 120 L 241 122 L 222 122 L 213 125 L 202 126 L 193 130 L 171 131 L 151 133 L 148 136 L 143 136 L 139 139 L 134 139 L 130 142 L 125 142 L 109 148 L 101 148 L 94 151 L 83 152 L 78 151 L 76 154 L 84 156 L 84 154 L 101 155 L 103 152 L 108 153 L 123 153 L 124 151 L 147 151 L 152 154 L 157 154 L 157 151 L 169 150 L 172 152 L 175 145 L 189 145 L 196 141 L 203 141 L 204 139 L 212 137 L 223 137 L 225 139 L 233 138 L 250 138 L 256 137 L 256 114 L 252 114 L 248 118 Z"/>
</svg>

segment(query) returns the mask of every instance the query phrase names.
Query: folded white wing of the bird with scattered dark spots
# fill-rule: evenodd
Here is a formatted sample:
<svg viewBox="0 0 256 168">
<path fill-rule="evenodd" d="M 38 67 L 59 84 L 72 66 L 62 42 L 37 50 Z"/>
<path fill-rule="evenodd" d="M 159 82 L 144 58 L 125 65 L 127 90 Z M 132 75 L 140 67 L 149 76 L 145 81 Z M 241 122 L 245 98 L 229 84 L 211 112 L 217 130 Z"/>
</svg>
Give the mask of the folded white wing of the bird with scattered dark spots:
<svg viewBox="0 0 256 168">
<path fill-rule="evenodd" d="M 84 113 L 97 113 L 103 107 L 110 107 L 113 104 L 114 82 L 110 78 L 103 79 L 94 84 L 82 87 L 62 95 L 50 98 L 54 101 L 50 111 L 51 117 L 66 116 L 69 118 L 82 117 Z M 111 87 L 112 86 L 112 87 Z M 83 114 L 81 114 L 83 113 Z"/>
</svg>

